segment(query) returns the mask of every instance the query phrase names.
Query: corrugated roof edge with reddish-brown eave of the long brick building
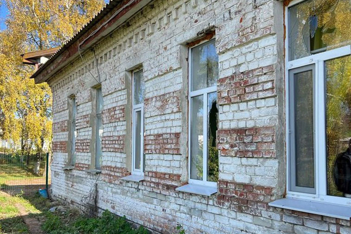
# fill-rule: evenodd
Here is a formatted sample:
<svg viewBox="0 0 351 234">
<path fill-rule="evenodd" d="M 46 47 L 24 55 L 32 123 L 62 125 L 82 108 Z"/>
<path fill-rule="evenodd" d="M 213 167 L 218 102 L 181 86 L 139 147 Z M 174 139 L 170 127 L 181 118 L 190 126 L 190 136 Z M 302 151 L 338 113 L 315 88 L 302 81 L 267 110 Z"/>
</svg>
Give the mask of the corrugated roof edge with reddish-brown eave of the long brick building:
<svg viewBox="0 0 351 234">
<path fill-rule="evenodd" d="M 47 62 L 40 66 L 31 78 L 35 79 L 35 83 L 48 81 L 55 73 L 79 56 L 78 47 L 80 47 L 80 51 L 91 47 L 150 1 L 111 0 L 88 24 L 83 26 Z"/>
</svg>

